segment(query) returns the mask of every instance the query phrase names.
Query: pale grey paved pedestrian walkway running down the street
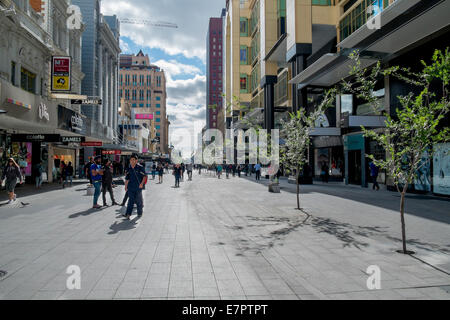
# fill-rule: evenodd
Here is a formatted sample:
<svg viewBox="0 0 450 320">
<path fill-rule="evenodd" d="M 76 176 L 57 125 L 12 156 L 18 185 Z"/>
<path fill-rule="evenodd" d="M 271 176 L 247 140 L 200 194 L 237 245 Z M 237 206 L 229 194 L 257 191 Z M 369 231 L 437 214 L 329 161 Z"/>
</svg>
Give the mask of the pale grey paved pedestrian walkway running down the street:
<svg viewBox="0 0 450 320">
<path fill-rule="evenodd" d="M 395 252 L 398 214 L 382 203 L 305 187 L 308 217 L 291 192 L 245 178 L 196 172 L 177 189 L 164 178 L 150 180 L 141 220 L 90 209 L 82 186 L 0 207 L 0 299 L 450 298 L 448 274 Z M 414 214 L 407 224 L 410 248 L 445 266 L 449 224 Z M 69 265 L 81 269 L 80 290 L 67 289 Z M 380 290 L 367 287 L 370 265 Z"/>
</svg>

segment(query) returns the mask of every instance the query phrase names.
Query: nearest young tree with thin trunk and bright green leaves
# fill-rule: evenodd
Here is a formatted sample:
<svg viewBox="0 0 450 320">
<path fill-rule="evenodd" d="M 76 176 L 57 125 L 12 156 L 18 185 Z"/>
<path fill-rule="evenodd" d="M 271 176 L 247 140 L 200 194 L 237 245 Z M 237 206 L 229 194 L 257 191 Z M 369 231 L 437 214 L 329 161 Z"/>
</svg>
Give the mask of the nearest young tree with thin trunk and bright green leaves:
<svg viewBox="0 0 450 320">
<path fill-rule="evenodd" d="M 396 110 L 394 117 L 387 115 L 386 127 L 381 132 L 362 128 L 365 137 L 378 142 L 386 151 L 386 159 L 367 156 L 376 166 L 386 170 L 400 194 L 402 252 L 407 254 L 406 192 L 417 177 L 418 171 L 428 162 L 422 160 L 423 155 L 428 153 L 431 159 L 434 144 L 450 141 L 449 128 L 441 128 L 441 121 L 450 110 L 449 50 L 436 50 L 429 65 L 422 61 L 423 70 L 420 73 L 400 67 L 382 70 L 380 64 L 367 70 L 361 68 L 357 52 L 351 57 L 356 62 L 350 73 L 354 76 L 354 82 L 344 82 L 343 88 L 370 102 L 374 107 L 379 103 L 373 92 L 380 75 L 400 79 L 415 87 L 418 92 L 398 97 L 401 108 Z"/>
</svg>

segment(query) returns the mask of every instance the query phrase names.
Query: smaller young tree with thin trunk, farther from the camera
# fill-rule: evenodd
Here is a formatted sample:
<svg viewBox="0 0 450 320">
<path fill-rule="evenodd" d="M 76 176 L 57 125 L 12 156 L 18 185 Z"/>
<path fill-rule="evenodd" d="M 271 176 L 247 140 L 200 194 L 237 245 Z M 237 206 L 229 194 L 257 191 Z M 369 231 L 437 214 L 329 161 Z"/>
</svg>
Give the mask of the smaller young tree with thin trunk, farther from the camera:
<svg viewBox="0 0 450 320">
<path fill-rule="evenodd" d="M 311 142 L 310 132 L 316 121 L 325 110 L 333 105 L 336 99 L 336 90 L 331 89 L 324 95 L 322 102 L 309 114 L 304 107 L 297 112 L 290 113 L 290 119 L 282 122 L 282 136 L 286 137 L 286 144 L 280 148 L 280 160 L 286 170 L 295 172 L 297 185 L 297 209 L 300 207 L 300 172 L 308 162 L 308 148 Z"/>
</svg>

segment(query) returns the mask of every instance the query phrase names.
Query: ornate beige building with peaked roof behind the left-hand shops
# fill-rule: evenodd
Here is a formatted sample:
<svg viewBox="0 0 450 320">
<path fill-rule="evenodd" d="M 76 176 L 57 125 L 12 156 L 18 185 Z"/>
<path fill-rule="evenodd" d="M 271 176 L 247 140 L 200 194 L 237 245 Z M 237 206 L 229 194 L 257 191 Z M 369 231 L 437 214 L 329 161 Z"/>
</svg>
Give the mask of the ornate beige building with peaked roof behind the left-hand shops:
<svg viewBox="0 0 450 320">
<path fill-rule="evenodd" d="M 120 98 L 131 103 L 138 123 L 150 129 L 147 152 L 168 154 L 169 121 L 164 70 L 150 64 L 148 54 L 144 55 L 142 50 L 137 55 L 123 54 L 120 56 L 119 86 Z M 149 115 L 152 120 L 148 119 Z"/>
</svg>

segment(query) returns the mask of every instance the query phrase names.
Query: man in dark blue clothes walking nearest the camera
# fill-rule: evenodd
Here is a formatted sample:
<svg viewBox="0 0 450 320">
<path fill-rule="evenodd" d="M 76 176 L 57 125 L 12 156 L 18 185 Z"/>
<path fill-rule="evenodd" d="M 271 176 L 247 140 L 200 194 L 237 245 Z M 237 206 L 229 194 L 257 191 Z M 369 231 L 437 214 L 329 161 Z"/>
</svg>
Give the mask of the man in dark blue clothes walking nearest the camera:
<svg viewBox="0 0 450 320">
<path fill-rule="evenodd" d="M 145 173 L 145 167 L 138 164 L 138 157 L 136 155 L 131 156 L 128 173 L 125 177 L 125 191 L 128 192 L 129 197 L 127 211 L 124 214 L 124 217 L 127 220 L 130 219 L 135 203 L 137 206 L 138 218 L 142 217 L 144 205 L 142 190 L 145 190 L 147 181 L 148 177 Z"/>
</svg>

